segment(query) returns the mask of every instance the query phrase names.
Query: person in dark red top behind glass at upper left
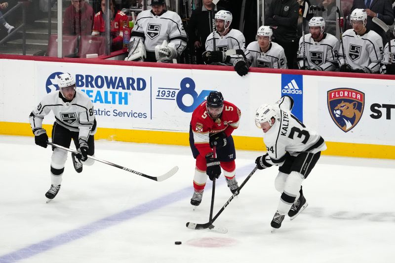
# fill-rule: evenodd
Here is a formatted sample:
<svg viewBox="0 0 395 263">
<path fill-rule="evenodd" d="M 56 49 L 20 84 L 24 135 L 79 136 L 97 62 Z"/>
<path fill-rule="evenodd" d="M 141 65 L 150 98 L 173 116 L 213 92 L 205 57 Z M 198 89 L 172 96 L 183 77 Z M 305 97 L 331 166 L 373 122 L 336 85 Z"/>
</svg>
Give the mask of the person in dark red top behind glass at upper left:
<svg viewBox="0 0 395 263">
<path fill-rule="evenodd" d="M 84 0 L 71 0 L 71 5 L 66 8 L 64 14 L 63 34 L 90 35 L 94 16 L 95 12 L 89 3 Z"/>
</svg>

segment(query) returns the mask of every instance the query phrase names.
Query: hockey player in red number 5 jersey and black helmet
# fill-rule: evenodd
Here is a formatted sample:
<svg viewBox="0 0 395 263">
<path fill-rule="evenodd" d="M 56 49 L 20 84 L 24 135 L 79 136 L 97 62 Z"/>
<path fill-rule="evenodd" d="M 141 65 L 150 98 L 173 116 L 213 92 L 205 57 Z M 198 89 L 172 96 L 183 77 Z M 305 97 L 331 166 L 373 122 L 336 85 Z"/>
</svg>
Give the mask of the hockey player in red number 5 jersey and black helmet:
<svg viewBox="0 0 395 263">
<path fill-rule="evenodd" d="M 232 132 L 238 127 L 240 115 L 240 110 L 234 104 L 224 101 L 218 91 L 210 92 L 207 100 L 192 113 L 189 143 L 196 158 L 192 205 L 200 204 L 207 176 L 211 181 L 214 177 L 218 178 L 221 168 L 228 187 L 232 193 L 236 192 L 236 150 Z M 216 158 L 213 157 L 214 146 Z"/>
</svg>

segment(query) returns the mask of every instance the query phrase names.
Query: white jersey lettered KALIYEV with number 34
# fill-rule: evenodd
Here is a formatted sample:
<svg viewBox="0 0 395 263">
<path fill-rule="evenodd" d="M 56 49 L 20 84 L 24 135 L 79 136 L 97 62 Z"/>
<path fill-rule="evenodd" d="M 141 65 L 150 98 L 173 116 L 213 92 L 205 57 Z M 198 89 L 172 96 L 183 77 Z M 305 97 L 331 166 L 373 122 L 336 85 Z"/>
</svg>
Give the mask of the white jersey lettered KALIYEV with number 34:
<svg viewBox="0 0 395 263">
<path fill-rule="evenodd" d="M 268 151 L 266 162 L 281 166 L 286 152 L 297 156 L 301 152 L 316 153 L 326 150 L 324 139 L 291 113 L 291 97 L 282 97 L 273 107 L 277 114 L 276 121 L 263 136 Z"/>
</svg>

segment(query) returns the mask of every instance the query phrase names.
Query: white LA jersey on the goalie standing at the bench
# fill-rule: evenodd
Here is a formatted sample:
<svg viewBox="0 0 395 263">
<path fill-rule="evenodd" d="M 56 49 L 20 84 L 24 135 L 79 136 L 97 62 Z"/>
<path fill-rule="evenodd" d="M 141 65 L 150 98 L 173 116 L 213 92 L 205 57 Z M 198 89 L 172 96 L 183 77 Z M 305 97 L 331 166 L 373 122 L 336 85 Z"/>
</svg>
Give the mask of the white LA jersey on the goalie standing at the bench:
<svg viewBox="0 0 395 263">
<path fill-rule="evenodd" d="M 173 42 L 179 55 L 184 51 L 188 41 L 181 17 L 169 10 L 165 10 L 160 16 L 155 15 L 151 10 L 140 12 L 130 38 L 143 39 L 148 52 L 155 52 L 155 46 L 161 45 L 163 40 L 168 43 Z"/>
</svg>

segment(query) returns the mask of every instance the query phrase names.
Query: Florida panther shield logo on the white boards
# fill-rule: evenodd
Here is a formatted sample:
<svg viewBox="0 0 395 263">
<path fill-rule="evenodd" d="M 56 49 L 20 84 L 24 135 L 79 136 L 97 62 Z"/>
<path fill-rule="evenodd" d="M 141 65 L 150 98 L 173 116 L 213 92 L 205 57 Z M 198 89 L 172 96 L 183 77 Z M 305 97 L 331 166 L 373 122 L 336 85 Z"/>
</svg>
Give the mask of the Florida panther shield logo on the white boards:
<svg viewBox="0 0 395 263">
<path fill-rule="evenodd" d="M 327 92 L 328 110 L 332 120 L 344 132 L 359 122 L 365 104 L 365 94 L 356 89 L 338 88 Z"/>
</svg>

